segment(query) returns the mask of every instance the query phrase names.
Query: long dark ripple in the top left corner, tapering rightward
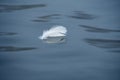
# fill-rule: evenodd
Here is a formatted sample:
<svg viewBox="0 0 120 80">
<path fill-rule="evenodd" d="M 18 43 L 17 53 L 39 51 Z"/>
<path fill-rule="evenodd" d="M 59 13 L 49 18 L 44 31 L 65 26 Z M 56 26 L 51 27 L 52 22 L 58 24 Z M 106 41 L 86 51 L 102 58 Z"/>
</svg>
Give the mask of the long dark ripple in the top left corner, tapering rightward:
<svg viewBox="0 0 120 80">
<path fill-rule="evenodd" d="M 45 4 L 32 4 L 32 5 L 4 5 L 0 4 L 0 12 L 11 12 L 16 10 L 24 10 L 37 7 L 45 7 Z"/>
</svg>

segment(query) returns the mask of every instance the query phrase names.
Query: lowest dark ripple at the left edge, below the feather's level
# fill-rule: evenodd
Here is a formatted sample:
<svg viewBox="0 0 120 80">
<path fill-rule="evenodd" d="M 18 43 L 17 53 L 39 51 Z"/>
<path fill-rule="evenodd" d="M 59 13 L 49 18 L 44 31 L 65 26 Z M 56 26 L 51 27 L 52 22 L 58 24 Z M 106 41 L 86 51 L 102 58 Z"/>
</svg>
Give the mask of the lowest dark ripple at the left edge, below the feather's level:
<svg viewBox="0 0 120 80">
<path fill-rule="evenodd" d="M 26 50 L 33 50 L 37 49 L 34 47 L 15 47 L 15 46 L 0 46 L 1 52 L 7 52 L 7 51 L 26 51 Z"/>
</svg>

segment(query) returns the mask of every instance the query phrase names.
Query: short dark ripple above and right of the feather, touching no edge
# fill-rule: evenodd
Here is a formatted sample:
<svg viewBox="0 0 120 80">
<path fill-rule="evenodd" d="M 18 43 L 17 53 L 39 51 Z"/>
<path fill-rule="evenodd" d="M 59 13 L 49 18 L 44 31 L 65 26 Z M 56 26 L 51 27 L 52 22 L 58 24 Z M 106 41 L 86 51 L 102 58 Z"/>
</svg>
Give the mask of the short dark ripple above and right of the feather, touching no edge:
<svg viewBox="0 0 120 80">
<path fill-rule="evenodd" d="M 84 20 L 91 20 L 96 18 L 96 16 L 82 12 L 82 11 L 74 11 L 74 15 L 71 15 L 68 17 L 74 18 L 74 19 L 84 19 Z"/>
</svg>

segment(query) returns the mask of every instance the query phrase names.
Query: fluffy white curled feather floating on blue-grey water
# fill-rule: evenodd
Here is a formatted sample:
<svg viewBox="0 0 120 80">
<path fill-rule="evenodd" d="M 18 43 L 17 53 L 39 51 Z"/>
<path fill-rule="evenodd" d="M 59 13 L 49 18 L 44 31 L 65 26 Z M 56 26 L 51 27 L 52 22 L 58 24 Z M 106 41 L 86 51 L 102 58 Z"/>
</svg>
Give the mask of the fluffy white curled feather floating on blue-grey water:
<svg viewBox="0 0 120 80">
<path fill-rule="evenodd" d="M 49 30 L 43 31 L 42 36 L 40 39 L 47 39 L 48 37 L 63 37 L 66 36 L 67 29 L 63 26 L 53 26 Z"/>
</svg>

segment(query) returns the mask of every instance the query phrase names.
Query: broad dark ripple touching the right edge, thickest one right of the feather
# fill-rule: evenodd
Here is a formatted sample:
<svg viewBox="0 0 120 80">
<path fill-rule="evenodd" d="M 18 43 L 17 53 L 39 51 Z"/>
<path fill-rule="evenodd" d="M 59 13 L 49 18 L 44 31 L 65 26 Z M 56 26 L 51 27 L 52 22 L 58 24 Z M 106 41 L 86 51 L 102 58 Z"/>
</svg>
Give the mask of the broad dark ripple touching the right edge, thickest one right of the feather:
<svg viewBox="0 0 120 80">
<path fill-rule="evenodd" d="M 100 48 L 119 48 L 120 40 L 109 40 L 109 39 L 85 39 L 85 42 L 90 45 L 100 47 Z"/>
</svg>

